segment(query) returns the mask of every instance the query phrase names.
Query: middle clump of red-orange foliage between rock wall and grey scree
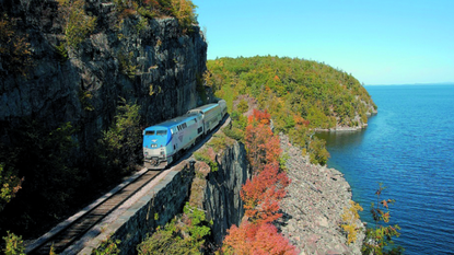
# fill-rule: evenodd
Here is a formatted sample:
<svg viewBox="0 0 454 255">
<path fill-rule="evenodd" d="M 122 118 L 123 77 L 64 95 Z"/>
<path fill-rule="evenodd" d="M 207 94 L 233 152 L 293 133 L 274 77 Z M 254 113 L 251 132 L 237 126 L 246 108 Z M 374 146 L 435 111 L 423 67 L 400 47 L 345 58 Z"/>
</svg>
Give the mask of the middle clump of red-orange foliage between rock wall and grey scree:
<svg viewBox="0 0 454 255">
<path fill-rule="evenodd" d="M 279 173 L 276 163 L 267 164 L 252 181 L 247 179 L 240 196 L 249 221 L 260 223 L 279 219 L 282 216 L 278 213 L 279 202 L 286 196 L 289 184 L 289 177 L 286 173 Z"/>
</svg>

